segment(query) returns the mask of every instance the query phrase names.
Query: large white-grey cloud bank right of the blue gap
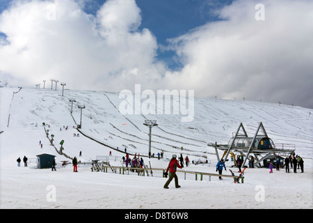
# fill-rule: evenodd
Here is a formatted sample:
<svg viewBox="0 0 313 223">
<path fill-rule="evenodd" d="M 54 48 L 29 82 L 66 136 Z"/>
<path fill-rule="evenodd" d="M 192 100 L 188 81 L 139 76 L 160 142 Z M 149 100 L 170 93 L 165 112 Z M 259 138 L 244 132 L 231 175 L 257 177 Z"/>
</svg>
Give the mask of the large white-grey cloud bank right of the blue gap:
<svg viewBox="0 0 313 223">
<path fill-rule="evenodd" d="M 264 3 L 265 20 L 255 20 Z M 313 107 L 312 1 L 234 1 L 211 22 L 170 40 L 182 59 L 167 72 L 172 85 L 199 96 L 294 103 Z M 308 84 L 310 83 L 310 84 Z"/>
</svg>

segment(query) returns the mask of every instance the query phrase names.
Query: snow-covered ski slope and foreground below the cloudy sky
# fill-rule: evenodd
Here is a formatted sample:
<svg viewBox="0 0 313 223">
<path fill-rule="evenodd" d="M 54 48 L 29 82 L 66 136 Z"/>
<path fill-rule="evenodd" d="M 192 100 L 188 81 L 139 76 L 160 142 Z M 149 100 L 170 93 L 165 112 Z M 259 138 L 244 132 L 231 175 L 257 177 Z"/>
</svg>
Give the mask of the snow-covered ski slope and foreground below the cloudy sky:
<svg viewBox="0 0 313 223">
<path fill-rule="evenodd" d="M 279 208 L 280 203 L 284 208 L 313 207 L 312 109 L 195 98 L 193 121 L 182 123 L 181 116 L 174 114 L 122 114 L 119 106 L 123 99 L 119 93 L 65 90 L 62 97 L 61 91 L 51 89 L 1 88 L 0 95 L 1 208 Z M 77 101 L 72 116 L 70 99 Z M 83 135 L 74 137 L 79 132 L 73 126 L 80 123 L 81 117 L 77 105 L 86 106 L 82 111 L 81 132 L 120 151 Z M 61 161 L 69 160 L 50 145 L 42 123 L 46 123 L 49 134 L 55 135 L 56 147 L 60 147 L 61 140 L 65 141 L 64 153 L 70 157 L 90 162 L 111 151 L 112 157 L 116 157 L 110 160 L 111 164 L 121 165 L 125 148 L 147 155 L 149 129 L 143 125 L 145 119 L 156 120 L 158 124 L 152 128 L 152 153 L 164 151 L 166 158 L 182 153 L 190 160 L 209 160 L 210 166 L 191 164 L 184 168 L 208 173 L 215 173 L 216 164 L 215 151 L 208 143 L 227 144 L 240 123 L 248 135 L 253 135 L 262 121 L 275 144 L 296 145 L 296 154 L 305 160 L 305 173 L 274 171 L 269 175 L 267 169 L 247 169 L 245 183 L 241 185 L 179 179 L 182 188 L 176 190 L 171 183 L 170 190 L 164 190 L 163 178 L 92 173 L 90 168 L 79 168 L 79 173 L 73 173 L 70 166 L 52 172 L 33 169 L 35 162 L 29 168 L 17 167 L 17 157 L 22 159 L 24 155 L 33 161 L 41 153 L 56 155 L 58 167 Z M 68 126 L 67 130 L 63 126 Z M 146 164 L 150 161 L 152 167 L 168 165 L 167 159 L 144 157 L 144 160 Z M 47 201 L 48 185 L 56 187 L 56 201 Z M 264 201 L 255 198 L 257 185 L 265 190 Z"/>
</svg>

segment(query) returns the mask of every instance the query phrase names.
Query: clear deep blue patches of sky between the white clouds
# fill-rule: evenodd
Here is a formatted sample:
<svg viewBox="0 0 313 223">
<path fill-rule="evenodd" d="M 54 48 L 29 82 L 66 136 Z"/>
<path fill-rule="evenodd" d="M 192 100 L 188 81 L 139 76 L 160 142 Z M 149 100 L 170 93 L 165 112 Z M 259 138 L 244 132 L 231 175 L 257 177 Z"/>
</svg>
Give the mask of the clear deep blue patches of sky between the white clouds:
<svg viewBox="0 0 313 223">
<path fill-rule="evenodd" d="M 93 14 L 99 10 L 106 0 L 86 1 L 84 10 Z M 157 37 L 159 45 L 168 45 L 169 38 L 181 36 L 191 29 L 207 22 L 220 20 L 214 12 L 232 3 L 232 0 L 136 0 L 141 9 L 140 29 L 147 28 Z M 169 68 L 175 70 L 182 66 L 175 59 L 175 52 L 160 47 L 157 59 L 164 61 Z"/>
</svg>

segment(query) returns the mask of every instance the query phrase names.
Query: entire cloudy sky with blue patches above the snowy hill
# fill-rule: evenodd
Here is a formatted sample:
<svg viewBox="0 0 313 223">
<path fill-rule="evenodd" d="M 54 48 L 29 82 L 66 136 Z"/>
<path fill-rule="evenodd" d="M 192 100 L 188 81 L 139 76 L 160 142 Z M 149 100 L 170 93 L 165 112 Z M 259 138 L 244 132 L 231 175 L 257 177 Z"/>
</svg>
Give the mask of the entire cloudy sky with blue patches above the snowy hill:
<svg viewBox="0 0 313 223">
<path fill-rule="evenodd" d="M 313 108 L 312 13 L 312 0 L 1 0 L 0 79 Z"/>
</svg>

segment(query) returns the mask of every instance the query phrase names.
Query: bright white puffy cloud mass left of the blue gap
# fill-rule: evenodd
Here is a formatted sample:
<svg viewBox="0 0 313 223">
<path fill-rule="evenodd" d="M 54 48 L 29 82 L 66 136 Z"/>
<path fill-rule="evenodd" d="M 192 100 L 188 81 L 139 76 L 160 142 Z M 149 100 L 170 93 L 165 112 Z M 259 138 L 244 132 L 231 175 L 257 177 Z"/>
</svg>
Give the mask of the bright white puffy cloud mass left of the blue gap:
<svg viewBox="0 0 313 223">
<path fill-rule="evenodd" d="M 33 85 L 54 78 L 71 89 L 106 91 L 150 82 L 150 73 L 159 78 L 157 40 L 149 30 L 138 30 L 141 10 L 134 0 L 106 1 L 96 17 L 81 4 L 17 1 L 3 12 L 0 31 L 10 44 L 0 46 L 2 74 Z"/>
</svg>

